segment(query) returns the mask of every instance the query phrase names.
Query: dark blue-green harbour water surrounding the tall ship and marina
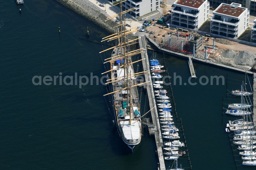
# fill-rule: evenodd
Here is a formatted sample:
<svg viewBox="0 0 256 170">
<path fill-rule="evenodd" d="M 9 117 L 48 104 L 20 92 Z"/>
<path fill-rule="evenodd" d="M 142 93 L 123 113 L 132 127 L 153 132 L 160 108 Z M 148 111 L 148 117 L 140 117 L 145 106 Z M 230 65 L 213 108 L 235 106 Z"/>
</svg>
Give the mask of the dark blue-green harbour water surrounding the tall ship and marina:
<svg viewBox="0 0 256 170">
<path fill-rule="evenodd" d="M 102 45 L 79 37 L 85 38 L 86 27 L 93 41 L 108 34 L 55 1 L 0 4 L 0 169 L 156 169 L 154 138 L 144 132 L 131 154 L 113 130 L 104 86 L 34 86 L 31 81 L 59 72 L 63 77 L 75 72 L 101 76 Z M 166 56 L 166 65 L 170 75 L 188 79 L 187 60 Z M 226 77 L 228 72 L 230 78 L 244 79 L 244 74 L 200 63 L 194 67 L 197 76 Z M 221 123 L 226 86 L 172 87 L 193 169 L 235 169 L 225 132 L 234 117 L 224 115 Z M 229 83 L 232 88 L 239 84 Z"/>
</svg>

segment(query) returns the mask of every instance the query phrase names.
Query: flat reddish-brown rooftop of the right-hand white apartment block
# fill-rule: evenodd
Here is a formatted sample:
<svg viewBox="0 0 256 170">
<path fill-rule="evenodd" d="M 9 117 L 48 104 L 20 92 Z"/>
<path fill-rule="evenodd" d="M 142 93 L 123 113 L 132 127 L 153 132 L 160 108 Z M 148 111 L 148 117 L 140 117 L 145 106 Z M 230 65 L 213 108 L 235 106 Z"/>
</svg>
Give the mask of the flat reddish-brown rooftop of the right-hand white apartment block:
<svg viewBox="0 0 256 170">
<path fill-rule="evenodd" d="M 239 4 L 240 5 L 240 4 Z M 230 15 L 233 17 L 239 17 L 246 8 L 238 7 L 238 4 L 231 4 L 231 5 L 220 5 L 214 12 L 219 14 Z"/>
</svg>

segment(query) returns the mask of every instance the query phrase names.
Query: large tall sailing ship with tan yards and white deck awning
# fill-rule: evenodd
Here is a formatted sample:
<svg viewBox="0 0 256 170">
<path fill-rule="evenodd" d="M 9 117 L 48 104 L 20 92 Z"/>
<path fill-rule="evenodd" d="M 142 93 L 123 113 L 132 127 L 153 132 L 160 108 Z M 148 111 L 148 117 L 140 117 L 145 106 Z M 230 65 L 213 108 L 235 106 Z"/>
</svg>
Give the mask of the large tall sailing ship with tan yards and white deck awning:
<svg viewBox="0 0 256 170">
<path fill-rule="evenodd" d="M 134 73 L 133 63 L 139 62 L 140 60 L 132 62 L 132 56 L 143 53 L 143 48 L 137 50 L 130 50 L 130 45 L 136 44 L 137 39 L 129 40 L 128 35 L 138 31 L 136 27 L 129 29 L 125 28 L 125 17 L 123 15 L 135 8 L 131 8 L 126 11 L 122 11 L 122 0 L 120 3 L 120 13 L 107 20 L 119 17 L 120 22 L 116 27 L 118 31 L 112 35 L 103 38 L 102 41 L 116 41 L 116 46 L 101 51 L 105 52 L 112 50 L 111 57 L 105 59 L 105 63 L 110 63 L 110 70 L 102 73 L 107 74 L 109 79 L 106 84 L 111 86 L 111 92 L 105 95 L 110 95 L 113 105 L 115 124 L 119 133 L 119 136 L 129 148 L 133 150 L 135 145 L 141 141 L 141 110 L 138 99 L 137 86 L 145 84 L 136 83 L 136 76 L 143 75 L 144 72 Z M 117 4 L 116 4 L 117 5 Z M 124 21 L 123 21 L 124 19 Z M 106 20 L 106 21 L 107 21 Z M 105 64 L 104 63 L 104 64 Z M 104 95 L 104 96 L 105 96 Z"/>
</svg>

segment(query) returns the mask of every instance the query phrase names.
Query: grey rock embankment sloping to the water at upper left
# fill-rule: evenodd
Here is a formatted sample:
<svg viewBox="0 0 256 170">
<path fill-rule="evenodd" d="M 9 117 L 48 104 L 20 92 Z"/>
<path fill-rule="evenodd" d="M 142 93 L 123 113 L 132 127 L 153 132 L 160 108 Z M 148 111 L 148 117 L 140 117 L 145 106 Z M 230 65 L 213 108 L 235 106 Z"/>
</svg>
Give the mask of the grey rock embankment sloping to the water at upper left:
<svg viewBox="0 0 256 170">
<path fill-rule="evenodd" d="M 66 8 L 74 11 L 75 13 L 81 15 L 85 19 L 91 21 L 95 25 L 101 27 L 105 31 L 113 34 L 116 30 L 113 28 L 116 26 L 116 22 L 112 20 L 106 20 L 106 16 L 102 14 L 99 10 L 92 8 L 86 1 L 82 0 L 55 0 Z"/>
</svg>

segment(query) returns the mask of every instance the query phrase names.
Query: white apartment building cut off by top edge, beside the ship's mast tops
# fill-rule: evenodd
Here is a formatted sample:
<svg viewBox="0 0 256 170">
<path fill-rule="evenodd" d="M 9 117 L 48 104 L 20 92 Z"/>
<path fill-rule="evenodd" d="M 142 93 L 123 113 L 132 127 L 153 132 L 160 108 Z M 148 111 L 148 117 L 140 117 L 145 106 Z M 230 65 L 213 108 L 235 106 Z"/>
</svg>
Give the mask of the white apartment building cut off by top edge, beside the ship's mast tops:
<svg viewBox="0 0 256 170">
<path fill-rule="evenodd" d="M 126 0 L 122 2 L 123 10 L 136 8 L 129 12 L 134 17 L 140 17 L 160 8 L 159 0 Z"/>
</svg>

